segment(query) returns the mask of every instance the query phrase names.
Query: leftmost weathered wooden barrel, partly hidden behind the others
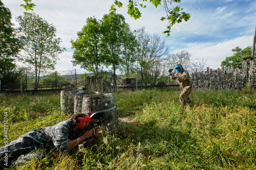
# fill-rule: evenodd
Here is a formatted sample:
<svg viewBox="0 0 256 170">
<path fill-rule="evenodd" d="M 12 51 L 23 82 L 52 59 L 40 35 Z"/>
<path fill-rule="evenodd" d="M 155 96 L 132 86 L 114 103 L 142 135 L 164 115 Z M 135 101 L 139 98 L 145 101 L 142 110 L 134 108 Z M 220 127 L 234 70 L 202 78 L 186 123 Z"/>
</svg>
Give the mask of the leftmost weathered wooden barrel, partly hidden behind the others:
<svg viewBox="0 0 256 170">
<path fill-rule="evenodd" d="M 60 91 L 60 108 L 64 114 L 74 114 L 75 95 L 82 93 L 82 88 L 70 88 Z"/>
</svg>

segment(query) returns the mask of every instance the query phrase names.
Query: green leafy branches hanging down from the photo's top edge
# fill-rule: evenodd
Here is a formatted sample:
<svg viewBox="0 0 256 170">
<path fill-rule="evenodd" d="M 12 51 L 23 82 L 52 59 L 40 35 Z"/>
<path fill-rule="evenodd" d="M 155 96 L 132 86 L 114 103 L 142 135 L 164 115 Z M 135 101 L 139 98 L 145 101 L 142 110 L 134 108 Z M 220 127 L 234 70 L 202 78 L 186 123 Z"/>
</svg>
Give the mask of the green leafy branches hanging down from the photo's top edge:
<svg viewBox="0 0 256 170">
<path fill-rule="evenodd" d="M 128 8 L 128 14 L 133 17 L 134 19 L 140 18 L 141 17 L 141 12 L 139 11 L 138 7 L 141 8 L 146 8 L 145 5 L 142 3 L 147 0 L 134 0 L 134 1 L 129 1 L 129 5 L 127 5 Z M 32 0 L 24 0 L 25 4 L 22 4 L 23 8 L 26 10 L 33 10 L 35 4 L 31 3 Z M 170 5 L 172 3 L 181 3 L 181 0 L 150 0 L 150 2 L 157 8 L 159 5 L 161 5 L 161 2 L 163 2 L 163 6 L 165 9 L 166 16 L 163 16 L 160 20 L 164 21 L 167 20 L 167 27 L 166 30 L 163 33 L 166 33 L 167 36 L 170 35 L 170 29 L 172 26 L 175 25 L 175 23 L 180 23 L 182 20 L 187 21 L 190 18 L 189 13 L 182 12 L 182 8 L 180 7 L 175 7 L 173 9 L 170 9 Z M 122 3 L 120 1 L 115 0 L 114 4 L 111 6 L 111 14 L 116 12 L 116 7 L 121 8 Z"/>
</svg>

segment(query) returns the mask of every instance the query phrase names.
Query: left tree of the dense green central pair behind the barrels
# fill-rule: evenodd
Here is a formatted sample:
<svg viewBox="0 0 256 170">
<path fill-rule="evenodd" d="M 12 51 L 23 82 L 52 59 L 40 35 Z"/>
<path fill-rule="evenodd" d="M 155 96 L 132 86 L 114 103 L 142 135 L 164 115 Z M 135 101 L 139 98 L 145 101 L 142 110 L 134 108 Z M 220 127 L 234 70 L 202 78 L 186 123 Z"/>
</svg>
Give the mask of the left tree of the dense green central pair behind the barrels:
<svg viewBox="0 0 256 170">
<path fill-rule="evenodd" d="M 96 18 L 87 18 L 87 25 L 77 33 L 77 39 L 71 40 L 72 48 L 75 48 L 72 61 L 75 65 L 81 64 L 81 67 L 94 72 L 97 76 L 100 66 L 104 62 L 101 55 L 101 33 L 100 23 Z"/>
</svg>

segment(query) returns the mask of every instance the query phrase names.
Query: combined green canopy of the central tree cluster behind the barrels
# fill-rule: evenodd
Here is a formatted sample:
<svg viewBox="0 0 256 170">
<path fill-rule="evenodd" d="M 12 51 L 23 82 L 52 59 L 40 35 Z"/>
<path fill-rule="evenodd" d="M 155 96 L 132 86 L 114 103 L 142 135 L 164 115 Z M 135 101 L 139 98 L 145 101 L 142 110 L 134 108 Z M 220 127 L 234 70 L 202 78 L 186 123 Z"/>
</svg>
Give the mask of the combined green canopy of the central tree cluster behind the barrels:
<svg viewBox="0 0 256 170">
<path fill-rule="evenodd" d="M 135 62 L 135 36 L 120 14 L 104 15 L 98 21 L 87 18 L 87 24 L 77 33 L 77 39 L 71 40 L 75 49 L 72 61 L 75 65 L 103 74 L 103 65 L 113 66 L 114 72 L 122 65 L 125 72 Z M 129 77 L 129 74 L 127 75 Z"/>
</svg>

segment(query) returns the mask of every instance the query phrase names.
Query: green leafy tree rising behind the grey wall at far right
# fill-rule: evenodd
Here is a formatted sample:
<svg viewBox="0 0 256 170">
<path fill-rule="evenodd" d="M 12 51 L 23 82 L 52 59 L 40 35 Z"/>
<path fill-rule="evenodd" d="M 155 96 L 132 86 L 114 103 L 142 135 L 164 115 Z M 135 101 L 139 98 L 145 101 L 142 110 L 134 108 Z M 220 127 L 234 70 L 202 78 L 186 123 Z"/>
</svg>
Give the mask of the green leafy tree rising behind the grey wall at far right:
<svg viewBox="0 0 256 170">
<path fill-rule="evenodd" d="M 244 50 L 242 50 L 242 48 L 240 48 L 239 46 L 233 48 L 233 55 L 230 57 L 226 57 L 226 59 L 221 62 L 221 65 L 223 65 L 225 69 L 228 69 L 229 64 L 231 64 L 231 66 L 233 66 L 234 68 L 242 68 L 242 58 L 248 55 L 251 56 L 251 48 L 251 46 L 245 47 Z M 247 66 L 250 66 L 249 62 L 247 62 Z"/>
</svg>

